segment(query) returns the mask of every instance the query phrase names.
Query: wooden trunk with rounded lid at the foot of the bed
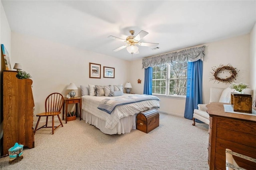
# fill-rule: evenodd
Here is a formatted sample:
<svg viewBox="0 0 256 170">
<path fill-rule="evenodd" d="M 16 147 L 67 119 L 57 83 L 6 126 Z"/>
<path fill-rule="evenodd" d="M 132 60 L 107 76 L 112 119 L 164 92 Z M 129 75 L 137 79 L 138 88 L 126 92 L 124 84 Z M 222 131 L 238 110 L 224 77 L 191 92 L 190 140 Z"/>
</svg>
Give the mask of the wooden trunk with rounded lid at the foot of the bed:
<svg viewBox="0 0 256 170">
<path fill-rule="evenodd" d="M 159 127 L 159 113 L 156 109 L 141 112 L 136 117 L 136 129 L 148 133 Z"/>
</svg>

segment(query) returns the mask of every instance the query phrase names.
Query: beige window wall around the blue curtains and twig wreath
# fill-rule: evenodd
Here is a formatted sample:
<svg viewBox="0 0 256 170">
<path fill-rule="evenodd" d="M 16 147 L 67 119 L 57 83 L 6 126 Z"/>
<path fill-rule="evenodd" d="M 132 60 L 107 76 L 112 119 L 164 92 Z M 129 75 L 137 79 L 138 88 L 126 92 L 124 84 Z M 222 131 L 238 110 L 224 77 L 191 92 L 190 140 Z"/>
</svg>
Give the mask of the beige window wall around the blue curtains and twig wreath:
<svg viewBox="0 0 256 170">
<path fill-rule="evenodd" d="M 249 47 L 250 47 L 250 36 L 239 36 L 230 38 L 218 42 L 207 43 L 206 45 L 206 56 L 204 57 L 203 63 L 203 103 L 209 103 L 210 99 L 210 87 L 228 87 L 230 84 L 218 83 L 217 81 L 210 81 L 212 67 L 219 66 L 220 64 L 227 65 L 231 64 L 236 67 L 239 71 L 236 82 L 243 82 L 250 85 L 249 77 Z M 134 85 L 132 83 L 134 93 L 143 93 L 144 85 L 144 69 L 142 67 L 142 59 L 133 61 L 132 65 L 135 65 L 132 69 L 131 77 L 136 80 L 139 77 L 143 77 L 141 85 Z M 132 81 L 134 81 L 132 79 Z M 160 98 L 160 112 L 168 113 L 172 115 L 184 116 L 185 99 L 176 99 L 170 97 L 159 97 Z"/>
</svg>

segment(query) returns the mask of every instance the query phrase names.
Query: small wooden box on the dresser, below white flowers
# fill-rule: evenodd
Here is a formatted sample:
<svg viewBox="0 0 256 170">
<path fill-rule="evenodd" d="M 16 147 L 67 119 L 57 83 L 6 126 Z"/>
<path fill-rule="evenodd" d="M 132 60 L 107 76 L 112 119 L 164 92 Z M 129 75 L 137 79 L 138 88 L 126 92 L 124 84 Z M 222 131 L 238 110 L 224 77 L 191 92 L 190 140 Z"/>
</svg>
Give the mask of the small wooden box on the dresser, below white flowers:
<svg viewBox="0 0 256 170">
<path fill-rule="evenodd" d="M 231 105 L 235 112 L 252 113 L 252 95 L 232 92 Z"/>
</svg>

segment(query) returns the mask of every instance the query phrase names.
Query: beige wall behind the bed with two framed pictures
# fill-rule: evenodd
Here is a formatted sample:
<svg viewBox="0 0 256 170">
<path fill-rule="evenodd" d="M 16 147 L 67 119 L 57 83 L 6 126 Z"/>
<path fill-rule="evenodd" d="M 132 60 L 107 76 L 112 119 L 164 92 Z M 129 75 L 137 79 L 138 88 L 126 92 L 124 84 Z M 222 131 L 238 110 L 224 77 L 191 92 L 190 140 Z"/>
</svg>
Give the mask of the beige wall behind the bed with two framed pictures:
<svg viewBox="0 0 256 170">
<path fill-rule="evenodd" d="M 59 92 L 66 97 L 70 83 L 75 83 L 76 96 L 80 96 L 80 85 L 125 84 L 130 72 L 130 61 L 16 32 L 12 32 L 11 62 L 21 63 L 32 76 L 35 114 L 44 112 L 44 101 L 50 93 Z M 101 79 L 89 78 L 89 62 L 101 64 Z M 114 79 L 103 78 L 103 66 L 115 68 Z"/>
</svg>

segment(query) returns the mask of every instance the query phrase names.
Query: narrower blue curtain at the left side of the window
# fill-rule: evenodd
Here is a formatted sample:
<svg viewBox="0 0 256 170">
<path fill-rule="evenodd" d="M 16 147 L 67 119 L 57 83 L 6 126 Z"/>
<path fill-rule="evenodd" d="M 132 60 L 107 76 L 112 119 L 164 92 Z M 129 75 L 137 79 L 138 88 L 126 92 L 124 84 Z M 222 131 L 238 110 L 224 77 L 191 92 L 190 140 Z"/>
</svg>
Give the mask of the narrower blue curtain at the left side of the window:
<svg viewBox="0 0 256 170">
<path fill-rule="evenodd" d="M 153 68 L 148 67 L 145 69 L 144 76 L 144 95 L 152 95 L 152 76 L 153 76 Z"/>
</svg>

